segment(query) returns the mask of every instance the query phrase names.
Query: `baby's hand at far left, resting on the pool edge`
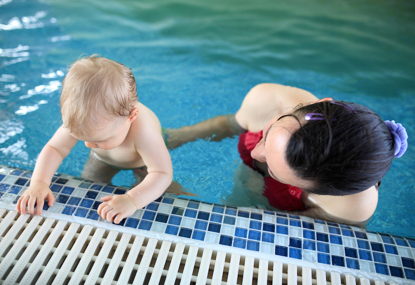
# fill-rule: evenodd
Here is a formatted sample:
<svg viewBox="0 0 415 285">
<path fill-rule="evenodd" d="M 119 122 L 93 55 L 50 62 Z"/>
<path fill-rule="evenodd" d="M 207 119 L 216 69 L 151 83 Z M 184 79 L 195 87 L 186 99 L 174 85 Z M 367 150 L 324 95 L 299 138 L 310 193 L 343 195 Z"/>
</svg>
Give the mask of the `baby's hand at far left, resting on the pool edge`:
<svg viewBox="0 0 415 285">
<path fill-rule="evenodd" d="M 16 210 L 24 215 L 27 208 L 27 212 L 34 215 L 34 205 L 36 204 L 36 215 L 40 215 L 45 200 L 48 201 L 49 207 L 55 202 L 55 197 L 49 186 L 41 181 L 30 182 L 29 188 L 17 200 Z"/>
</svg>

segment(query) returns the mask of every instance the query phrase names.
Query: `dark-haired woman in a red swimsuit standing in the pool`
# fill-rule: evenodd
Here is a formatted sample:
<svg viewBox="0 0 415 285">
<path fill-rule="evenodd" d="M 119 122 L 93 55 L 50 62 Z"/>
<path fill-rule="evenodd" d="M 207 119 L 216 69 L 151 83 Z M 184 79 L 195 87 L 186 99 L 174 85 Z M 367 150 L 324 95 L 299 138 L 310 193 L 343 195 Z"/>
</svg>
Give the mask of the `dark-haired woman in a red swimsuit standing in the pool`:
<svg viewBox="0 0 415 285">
<path fill-rule="evenodd" d="M 271 206 L 360 227 L 376 210 L 394 156 L 408 146 L 401 124 L 362 105 L 269 83 L 252 88 L 234 116 L 169 130 L 168 143 L 238 133 L 241 158 L 264 176 Z"/>
</svg>

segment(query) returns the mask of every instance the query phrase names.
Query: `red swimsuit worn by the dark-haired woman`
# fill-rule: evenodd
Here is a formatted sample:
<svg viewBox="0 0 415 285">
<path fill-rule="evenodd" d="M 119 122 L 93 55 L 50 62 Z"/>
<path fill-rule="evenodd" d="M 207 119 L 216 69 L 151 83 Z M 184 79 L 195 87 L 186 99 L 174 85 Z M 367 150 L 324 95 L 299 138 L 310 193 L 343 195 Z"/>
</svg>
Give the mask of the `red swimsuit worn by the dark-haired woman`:
<svg viewBox="0 0 415 285">
<path fill-rule="evenodd" d="M 243 162 L 254 170 L 255 167 L 251 157 L 251 151 L 255 145 L 262 139 L 262 131 L 258 133 L 246 132 L 239 135 L 238 150 Z M 264 177 L 265 189 L 264 195 L 267 197 L 269 204 L 282 211 L 305 210 L 301 202 L 302 189 L 283 184 L 272 177 Z"/>
</svg>

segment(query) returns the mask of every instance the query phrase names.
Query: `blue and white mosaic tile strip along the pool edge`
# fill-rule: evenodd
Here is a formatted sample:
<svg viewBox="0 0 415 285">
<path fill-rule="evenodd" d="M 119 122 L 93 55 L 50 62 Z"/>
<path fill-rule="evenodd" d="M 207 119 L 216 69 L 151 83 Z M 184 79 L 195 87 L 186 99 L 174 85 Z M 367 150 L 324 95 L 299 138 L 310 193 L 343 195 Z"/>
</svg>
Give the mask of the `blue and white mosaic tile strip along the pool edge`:
<svg viewBox="0 0 415 285">
<path fill-rule="evenodd" d="M 0 207 L 15 206 L 31 171 L 0 165 Z M 100 198 L 127 189 L 56 174 L 47 212 L 102 221 Z M 104 222 L 103 222 L 104 223 Z M 320 265 L 415 280 L 415 239 L 263 209 L 229 207 L 164 195 L 121 225 Z"/>
</svg>

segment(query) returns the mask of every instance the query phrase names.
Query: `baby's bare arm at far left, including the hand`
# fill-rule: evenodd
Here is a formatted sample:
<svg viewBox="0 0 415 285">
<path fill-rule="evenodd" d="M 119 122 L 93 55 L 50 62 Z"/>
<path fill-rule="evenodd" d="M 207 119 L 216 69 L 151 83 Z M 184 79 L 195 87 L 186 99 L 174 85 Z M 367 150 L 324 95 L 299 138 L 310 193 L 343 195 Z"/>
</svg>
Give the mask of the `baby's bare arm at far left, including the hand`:
<svg viewBox="0 0 415 285">
<path fill-rule="evenodd" d="M 45 144 L 37 157 L 30 185 L 17 201 L 17 212 L 24 215 L 27 209 L 29 214 L 40 215 L 44 200 L 48 201 L 49 206 L 53 205 L 55 198 L 49 189 L 53 174 L 76 142 L 76 139 L 60 127 Z M 35 204 L 36 212 L 34 211 Z"/>
</svg>

